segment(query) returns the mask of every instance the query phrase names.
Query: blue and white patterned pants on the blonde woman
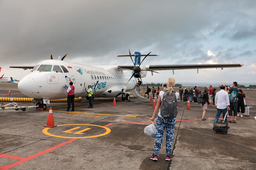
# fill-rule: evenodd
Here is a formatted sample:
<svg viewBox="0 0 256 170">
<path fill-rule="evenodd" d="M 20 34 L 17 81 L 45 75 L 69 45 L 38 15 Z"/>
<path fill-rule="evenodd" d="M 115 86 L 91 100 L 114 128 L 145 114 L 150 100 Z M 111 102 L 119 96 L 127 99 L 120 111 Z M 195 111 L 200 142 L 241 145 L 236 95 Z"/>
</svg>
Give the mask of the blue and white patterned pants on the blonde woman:
<svg viewBox="0 0 256 170">
<path fill-rule="evenodd" d="M 157 134 L 154 144 L 154 153 L 159 153 L 162 141 L 163 141 L 163 132 L 166 128 L 166 153 L 172 153 L 172 142 L 174 137 L 176 118 L 163 118 L 157 116 Z"/>
</svg>

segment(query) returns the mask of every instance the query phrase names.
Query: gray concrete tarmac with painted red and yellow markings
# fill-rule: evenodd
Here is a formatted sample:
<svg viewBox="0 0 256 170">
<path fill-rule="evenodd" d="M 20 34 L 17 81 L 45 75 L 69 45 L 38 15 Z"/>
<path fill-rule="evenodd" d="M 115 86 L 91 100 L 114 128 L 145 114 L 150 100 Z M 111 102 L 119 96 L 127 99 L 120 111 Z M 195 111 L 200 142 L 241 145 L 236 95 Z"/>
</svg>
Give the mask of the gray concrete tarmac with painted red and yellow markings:
<svg viewBox="0 0 256 170">
<path fill-rule="evenodd" d="M 84 99 L 75 112 L 66 112 L 66 103 L 51 103 L 58 125 L 52 128 L 44 127 L 49 111 L 0 110 L 0 170 L 255 170 L 256 91 L 244 94 L 250 117 L 230 123 L 227 134 L 212 130 L 216 106 L 208 106 L 201 121 L 198 103 L 187 110 L 186 102 L 178 102 L 172 161 L 165 161 L 165 137 L 158 161 L 150 159 L 154 138 L 144 134 L 154 112 L 149 99 L 116 98 L 112 106 L 113 99 L 96 98 L 93 108 Z M 17 85 L 0 84 L 0 97 L 26 96 Z"/>
</svg>

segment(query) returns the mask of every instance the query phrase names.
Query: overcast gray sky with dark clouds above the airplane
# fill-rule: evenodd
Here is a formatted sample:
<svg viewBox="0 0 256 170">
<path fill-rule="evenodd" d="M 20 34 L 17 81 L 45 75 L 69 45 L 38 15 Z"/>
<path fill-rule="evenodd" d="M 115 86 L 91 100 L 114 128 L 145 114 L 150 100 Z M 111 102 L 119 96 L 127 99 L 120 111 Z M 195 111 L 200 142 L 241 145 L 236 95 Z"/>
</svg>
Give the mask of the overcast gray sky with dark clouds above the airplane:
<svg viewBox="0 0 256 170">
<path fill-rule="evenodd" d="M 21 79 L 35 65 L 68 53 L 85 65 L 242 63 L 241 68 L 160 71 L 145 82 L 256 82 L 255 0 L 0 0 L 0 67 Z"/>
</svg>

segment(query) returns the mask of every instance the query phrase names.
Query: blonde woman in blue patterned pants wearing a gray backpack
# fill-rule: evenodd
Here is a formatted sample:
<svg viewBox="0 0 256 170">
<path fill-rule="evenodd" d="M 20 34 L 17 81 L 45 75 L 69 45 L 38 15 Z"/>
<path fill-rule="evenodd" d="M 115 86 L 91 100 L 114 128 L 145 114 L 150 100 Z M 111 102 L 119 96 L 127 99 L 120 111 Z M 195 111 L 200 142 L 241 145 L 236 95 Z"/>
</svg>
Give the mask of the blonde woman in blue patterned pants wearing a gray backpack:
<svg viewBox="0 0 256 170">
<path fill-rule="evenodd" d="M 154 153 L 150 159 L 153 161 L 157 161 L 157 153 L 159 153 L 163 141 L 163 132 L 166 128 L 166 161 L 170 161 L 172 159 L 172 142 L 173 142 L 173 135 L 175 130 L 175 123 L 176 123 L 176 115 L 177 115 L 177 99 L 179 97 L 179 93 L 173 90 L 175 85 L 175 79 L 169 78 L 167 79 L 167 88 L 165 91 L 160 91 L 156 108 L 154 109 L 153 116 L 151 117 L 151 122 L 154 122 L 155 116 L 157 115 L 157 125 L 156 125 L 156 138 L 154 144 Z M 172 98 L 172 104 L 166 104 L 163 102 L 163 98 L 169 100 L 169 97 Z M 162 104 L 163 102 L 163 104 Z M 169 103 L 169 102 L 167 102 Z M 161 105 L 162 104 L 162 105 Z M 161 106 L 161 108 L 160 108 Z M 164 110 L 165 108 L 171 107 L 171 109 Z M 169 113 L 169 112 L 172 113 Z M 169 113 L 169 114 L 164 114 Z M 172 115 L 172 116 L 168 116 Z"/>
</svg>

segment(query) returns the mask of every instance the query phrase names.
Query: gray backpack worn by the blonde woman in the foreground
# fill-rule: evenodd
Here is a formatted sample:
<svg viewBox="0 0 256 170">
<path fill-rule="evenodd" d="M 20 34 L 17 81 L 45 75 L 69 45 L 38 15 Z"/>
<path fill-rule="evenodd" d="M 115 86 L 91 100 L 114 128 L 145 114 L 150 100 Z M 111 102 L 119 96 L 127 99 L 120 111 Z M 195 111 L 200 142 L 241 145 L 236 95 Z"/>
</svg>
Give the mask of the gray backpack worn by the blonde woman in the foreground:
<svg viewBox="0 0 256 170">
<path fill-rule="evenodd" d="M 164 118 L 175 118 L 177 116 L 177 98 L 175 91 L 169 94 L 164 90 L 163 100 L 160 107 L 161 116 Z"/>
</svg>

